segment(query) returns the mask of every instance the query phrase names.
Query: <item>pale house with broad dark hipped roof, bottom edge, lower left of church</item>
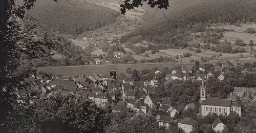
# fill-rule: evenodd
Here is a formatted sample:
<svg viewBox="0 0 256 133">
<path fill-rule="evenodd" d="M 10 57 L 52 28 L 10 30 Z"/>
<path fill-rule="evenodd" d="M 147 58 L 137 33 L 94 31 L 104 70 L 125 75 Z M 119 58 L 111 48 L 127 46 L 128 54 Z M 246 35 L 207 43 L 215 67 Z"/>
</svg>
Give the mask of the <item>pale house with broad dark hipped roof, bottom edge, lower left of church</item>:
<svg viewBox="0 0 256 133">
<path fill-rule="evenodd" d="M 178 127 L 184 132 L 189 133 L 198 126 L 198 122 L 191 118 L 183 118 L 178 122 Z"/>
</svg>

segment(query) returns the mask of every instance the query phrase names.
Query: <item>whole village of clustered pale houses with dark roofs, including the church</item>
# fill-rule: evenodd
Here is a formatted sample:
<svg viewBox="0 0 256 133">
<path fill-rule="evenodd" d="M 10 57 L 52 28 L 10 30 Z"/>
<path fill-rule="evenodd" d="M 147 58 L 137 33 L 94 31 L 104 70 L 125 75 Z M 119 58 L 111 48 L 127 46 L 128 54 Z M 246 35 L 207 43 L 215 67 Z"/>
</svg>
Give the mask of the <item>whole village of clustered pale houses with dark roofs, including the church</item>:
<svg viewBox="0 0 256 133">
<path fill-rule="evenodd" d="M 198 121 L 192 118 L 177 119 L 177 115 L 182 110 L 197 108 L 196 103 L 189 103 L 183 108 L 173 106 L 168 98 L 160 99 L 156 90 L 161 84 L 168 84 L 170 81 L 191 80 L 200 82 L 199 113 L 198 116 L 207 116 L 212 113 L 217 115 L 239 115 L 242 116 L 241 105 L 237 102 L 237 97 L 246 100 L 246 93 L 250 88 L 234 87 L 234 92 L 227 99 L 211 98 L 207 94 L 207 85 L 205 81 L 210 78 L 217 77 L 219 81 L 225 79 L 226 74 L 237 73 L 231 71 L 231 66 L 228 63 L 221 65 L 200 64 L 197 69 L 178 67 L 170 69 L 164 77 L 164 82 L 158 80 L 157 75 L 162 73 L 162 70 L 154 72 L 152 80 L 135 81 L 131 76 L 124 79 L 118 79 L 117 71 L 110 70 L 109 74 L 94 74 L 94 75 L 74 75 L 63 76 L 61 74 L 32 73 L 28 78 L 25 78 L 23 84 L 32 84 L 33 92 L 40 96 L 49 97 L 53 94 L 72 94 L 90 99 L 97 106 L 103 108 L 111 108 L 112 113 L 119 114 L 130 112 L 134 115 L 152 116 L 152 113 L 157 110 L 156 120 L 159 127 L 169 128 L 170 123 L 177 123 L 177 126 L 184 132 L 190 132 L 198 126 Z M 216 73 L 218 75 L 215 75 Z M 244 68 L 242 75 L 254 73 L 254 69 Z M 117 82 L 119 80 L 119 82 Z M 256 92 L 255 90 L 252 90 Z M 18 97 L 28 97 L 25 92 L 17 93 Z M 256 97 L 253 99 L 255 100 Z M 22 101 L 22 100 L 21 100 Z M 33 104 L 33 100 L 31 103 Z M 222 131 L 225 124 L 219 119 L 211 124 L 215 131 Z"/>
</svg>

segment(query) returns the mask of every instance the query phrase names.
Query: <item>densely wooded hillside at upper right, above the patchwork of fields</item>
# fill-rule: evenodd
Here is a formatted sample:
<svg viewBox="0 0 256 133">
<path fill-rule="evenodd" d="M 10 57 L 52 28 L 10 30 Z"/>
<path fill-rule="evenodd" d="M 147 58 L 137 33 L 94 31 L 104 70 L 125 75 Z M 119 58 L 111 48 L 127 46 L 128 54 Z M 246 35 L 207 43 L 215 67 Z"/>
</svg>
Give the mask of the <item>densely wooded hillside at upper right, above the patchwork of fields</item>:
<svg viewBox="0 0 256 133">
<path fill-rule="evenodd" d="M 186 34 L 201 32 L 204 27 L 211 23 L 233 24 L 238 20 L 242 23 L 256 21 L 255 0 L 204 1 L 182 11 L 170 13 L 167 17 L 145 21 L 141 28 L 124 35 L 121 41 L 127 42 L 136 38 L 155 43 L 177 45 L 177 41 L 184 40 Z"/>
</svg>

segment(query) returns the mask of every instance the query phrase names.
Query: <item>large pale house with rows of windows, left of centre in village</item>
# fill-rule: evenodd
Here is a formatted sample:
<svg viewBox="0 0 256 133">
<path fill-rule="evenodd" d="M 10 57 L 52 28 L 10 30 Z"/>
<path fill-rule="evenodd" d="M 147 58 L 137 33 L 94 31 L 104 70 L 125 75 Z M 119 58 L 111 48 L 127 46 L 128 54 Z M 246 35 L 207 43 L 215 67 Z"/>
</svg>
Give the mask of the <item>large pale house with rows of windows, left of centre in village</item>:
<svg viewBox="0 0 256 133">
<path fill-rule="evenodd" d="M 109 93 L 102 93 L 101 92 L 101 93 L 98 93 L 98 94 L 94 95 L 94 101 L 95 101 L 97 106 L 102 106 L 107 102 L 111 103 L 112 98 L 109 95 Z"/>
</svg>

